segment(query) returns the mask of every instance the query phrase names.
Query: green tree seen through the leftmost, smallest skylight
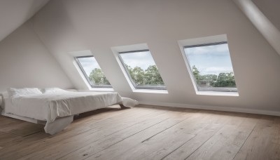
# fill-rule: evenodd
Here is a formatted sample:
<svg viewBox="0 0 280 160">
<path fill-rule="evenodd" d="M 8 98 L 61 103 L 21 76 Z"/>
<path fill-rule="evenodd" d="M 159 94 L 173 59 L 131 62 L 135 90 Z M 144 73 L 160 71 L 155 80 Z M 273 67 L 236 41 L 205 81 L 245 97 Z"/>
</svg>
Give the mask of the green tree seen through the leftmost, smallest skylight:
<svg viewBox="0 0 280 160">
<path fill-rule="evenodd" d="M 108 79 L 106 79 L 104 73 L 99 68 L 94 68 L 90 72 L 89 79 L 93 85 L 110 85 Z"/>
</svg>

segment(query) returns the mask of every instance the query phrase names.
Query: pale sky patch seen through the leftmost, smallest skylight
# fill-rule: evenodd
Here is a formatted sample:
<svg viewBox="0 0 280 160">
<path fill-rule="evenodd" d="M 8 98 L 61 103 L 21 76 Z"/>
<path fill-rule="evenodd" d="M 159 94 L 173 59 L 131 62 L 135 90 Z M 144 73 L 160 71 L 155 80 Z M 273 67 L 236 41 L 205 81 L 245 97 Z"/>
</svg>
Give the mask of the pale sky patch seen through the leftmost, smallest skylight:
<svg viewBox="0 0 280 160">
<path fill-rule="evenodd" d="M 78 58 L 78 61 L 80 62 L 80 65 L 82 65 L 87 76 L 90 76 L 90 72 L 92 72 L 94 68 L 100 69 L 97 60 L 95 60 L 94 57 Z"/>
</svg>

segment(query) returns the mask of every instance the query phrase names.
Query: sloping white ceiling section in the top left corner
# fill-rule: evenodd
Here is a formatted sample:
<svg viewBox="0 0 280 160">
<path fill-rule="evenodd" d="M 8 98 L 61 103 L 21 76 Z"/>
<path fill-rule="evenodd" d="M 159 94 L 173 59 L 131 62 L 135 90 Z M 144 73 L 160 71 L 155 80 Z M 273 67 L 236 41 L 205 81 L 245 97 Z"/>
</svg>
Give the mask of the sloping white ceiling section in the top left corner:
<svg viewBox="0 0 280 160">
<path fill-rule="evenodd" d="M 1 0 L 0 41 L 31 18 L 49 0 Z"/>
</svg>

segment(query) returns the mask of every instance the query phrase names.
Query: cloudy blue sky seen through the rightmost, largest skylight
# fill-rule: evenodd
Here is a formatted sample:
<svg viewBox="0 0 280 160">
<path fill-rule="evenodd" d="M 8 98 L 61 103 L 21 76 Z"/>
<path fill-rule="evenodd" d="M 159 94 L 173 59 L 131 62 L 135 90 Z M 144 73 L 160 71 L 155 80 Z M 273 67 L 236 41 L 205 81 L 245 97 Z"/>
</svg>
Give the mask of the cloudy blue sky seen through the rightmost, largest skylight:
<svg viewBox="0 0 280 160">
<path fill-rule="evenodd" d="M 197 67 L 200 74 L 233 72 L 228 44 L 185 48 L 190 66 Z"/>
</svg>

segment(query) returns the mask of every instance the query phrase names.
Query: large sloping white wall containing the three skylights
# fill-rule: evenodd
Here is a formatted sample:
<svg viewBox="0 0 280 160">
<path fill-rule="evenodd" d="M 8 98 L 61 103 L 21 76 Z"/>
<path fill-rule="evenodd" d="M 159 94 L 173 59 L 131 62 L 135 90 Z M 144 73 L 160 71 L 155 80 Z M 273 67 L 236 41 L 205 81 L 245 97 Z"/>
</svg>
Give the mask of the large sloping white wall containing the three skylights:
<svg viewBox="0 0 280 160">
<path fill-rule="evenodd" d="M 280 56 L 231 0 L 52 0 L 35 31 L 76 88 L 68 52 L 90 49 L 115 91 L 145 102 L 280 111 Z M 177 41 L 227 34 L 239 97 L 196 95 Z M 111 47 L 148 44 L 168 94 L 133 93 Z"/>
</svg>

